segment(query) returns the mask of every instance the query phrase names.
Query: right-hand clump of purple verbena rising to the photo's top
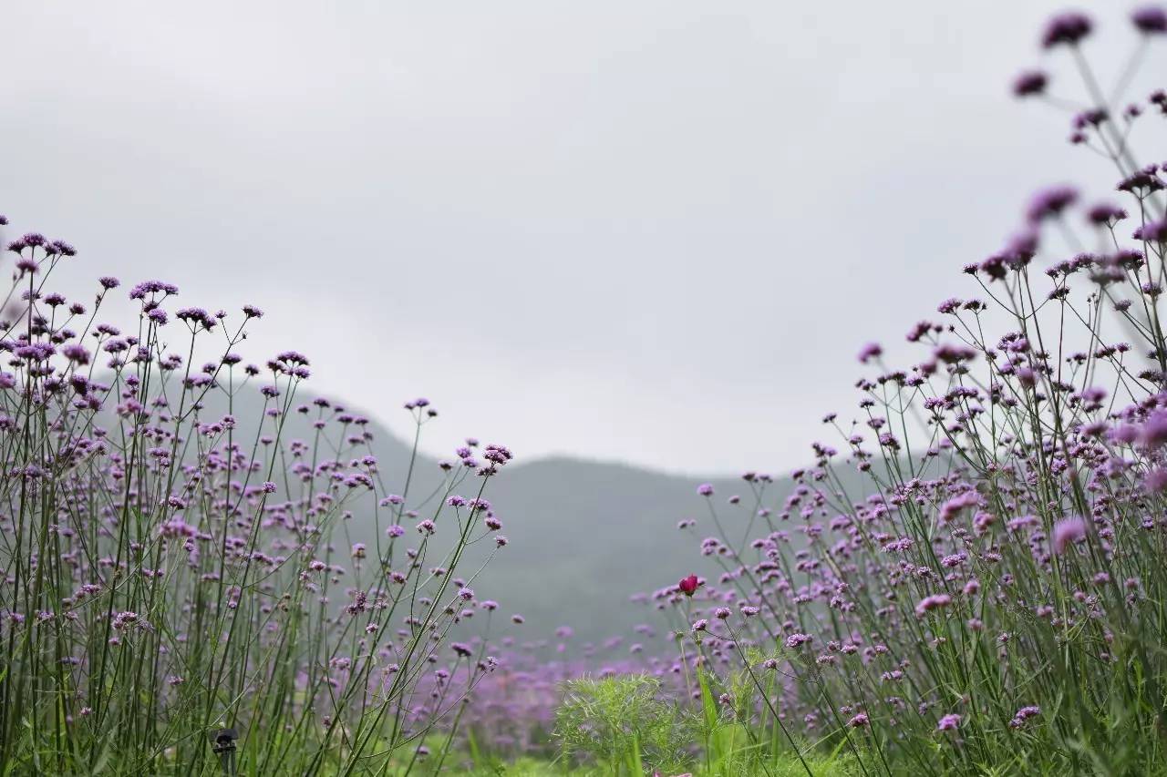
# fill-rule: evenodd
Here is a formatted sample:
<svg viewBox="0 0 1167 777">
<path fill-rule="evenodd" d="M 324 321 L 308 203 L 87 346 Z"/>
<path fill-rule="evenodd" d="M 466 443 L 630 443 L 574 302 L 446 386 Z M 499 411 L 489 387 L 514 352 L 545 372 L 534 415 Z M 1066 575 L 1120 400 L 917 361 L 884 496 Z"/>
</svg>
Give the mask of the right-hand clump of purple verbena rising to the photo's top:
<svg viewBox="0 0 1167 777">
<path fill-rule="evenodd" d="M 1084 83 L 1071 141 L 1123 200 L 1040 192 L 965 267 L 976 296 L 909 331 L 918 362 L 865 348 L 858 413 L 825 419 L 843 453 L 816 443 L 789 498 L 746 474 L 733 516 L 699 489 L 721 574 L 658 598 L 686 616 L 686 671 L 696 651 L 722 714 L 776 727 L 775 750 L 817 741 L 867 775 L 1167 771 L 1167 164 L 1135 145 L 1162 139 L 1167 93 L 1118 103 L 1167 13 L 1133 21 L 1110 91 L 1083 56 L 1090 19 L 1043 38 Z"/>
</svg>

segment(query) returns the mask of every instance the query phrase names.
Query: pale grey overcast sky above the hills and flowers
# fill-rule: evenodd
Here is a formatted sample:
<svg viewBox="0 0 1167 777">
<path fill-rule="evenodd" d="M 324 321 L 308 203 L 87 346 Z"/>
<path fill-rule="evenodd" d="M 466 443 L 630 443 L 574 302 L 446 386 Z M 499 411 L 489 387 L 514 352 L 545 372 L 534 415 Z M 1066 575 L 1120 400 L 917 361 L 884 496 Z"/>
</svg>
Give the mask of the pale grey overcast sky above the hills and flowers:
<svg viewBox="0 0 1167 777">
<path fill-rule="evenodd" d="M 1061 7 L 14 2 L 0 212 L 79 249 L 78 295 L 252 302 L 253 358 L 398 430 L 429 397 L 442 452 L 781 471 L 1033 189 L 1110 184 L 1008 94 L 1079 93 L 1036 46 Z M 1096 4 L 1107 72 L 1127 10 Z"/>
</svg>

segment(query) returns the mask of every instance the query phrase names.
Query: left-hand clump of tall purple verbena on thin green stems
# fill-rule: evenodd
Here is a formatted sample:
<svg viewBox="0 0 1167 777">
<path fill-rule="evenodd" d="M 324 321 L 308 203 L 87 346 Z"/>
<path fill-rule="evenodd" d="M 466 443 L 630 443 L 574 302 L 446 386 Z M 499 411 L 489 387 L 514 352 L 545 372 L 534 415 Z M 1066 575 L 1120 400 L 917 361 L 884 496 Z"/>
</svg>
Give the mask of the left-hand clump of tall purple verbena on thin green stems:
<svg viewBox="0 0 1167 777">
<path fill-rule="evenodd" d="M 0 772 L 349 775 L 383 774 L 401 749 L 424 758 L 421 737 L 494 663 L 450 629 L 497 607 L 455 575 L 469 545 L 505 545 L 483 491 L 511 453 L 469 441 L 420 496 L 411 459 L 391 494 L 365 419 L 296 404 L 307 358 L 236 355 L 258 308 L 181 308 L 146 281 L 137 315 L 102 323 L 116 279 L 88 310 L 46 286 L 72 247 L 36 233 L 8 247 Z M 406 408 L 419 433 L 436 415 Z M 307 439 L 287 439 L 292 419 Z M 349 518 L 376 526 L 375 546 L 333 544 Z"/>
</svg>

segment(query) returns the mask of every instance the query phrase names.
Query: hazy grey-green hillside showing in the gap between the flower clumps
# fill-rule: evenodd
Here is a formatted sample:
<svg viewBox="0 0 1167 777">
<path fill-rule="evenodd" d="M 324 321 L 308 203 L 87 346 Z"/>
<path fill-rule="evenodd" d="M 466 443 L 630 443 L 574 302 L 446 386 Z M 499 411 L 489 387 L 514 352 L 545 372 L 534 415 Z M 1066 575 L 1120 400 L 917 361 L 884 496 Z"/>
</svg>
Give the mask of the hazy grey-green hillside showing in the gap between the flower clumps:
<svg viewBox="0 0 1167 777">
<path fill-rule="evenodd" d="M 655 610 L 629 595 L 710 569 L 700 534 L 708 523 L 701 481 L 623 464 L 548 459 L 516 467 L 491 484 L 512 544 L 488 567 L 481 588 L 527 616 L 532 629 L 571 624 L 581 638 L 630 635 Z M 729 482 L 714 482 L 728 494 Z M 783 492 L 785 487 L 782 487 Z M 706 532 L 712 533 L 712 532 Z"/>
</svg>

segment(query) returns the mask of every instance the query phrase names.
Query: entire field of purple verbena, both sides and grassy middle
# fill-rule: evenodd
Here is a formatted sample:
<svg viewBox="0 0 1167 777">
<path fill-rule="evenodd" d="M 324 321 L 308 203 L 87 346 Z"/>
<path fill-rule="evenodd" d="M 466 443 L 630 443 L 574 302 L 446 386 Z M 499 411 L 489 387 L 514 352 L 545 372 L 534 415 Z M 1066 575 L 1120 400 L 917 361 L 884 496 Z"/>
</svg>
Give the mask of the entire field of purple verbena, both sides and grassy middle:
<svg viewBox="0 0 1167 777">
<path fill-rule="evenodd" d="M 1100 23 L 1132 40 L 1113 84 Z M 607 642 L 491 590 L 522 450 L 428 461 L 415 398 L 389 466 L 310 354 L 250 348 L 288 327 L 263 288 L 67 299 L 102 258 L 5 203 L 0 772 L 1167 774 L 1167 92 L 1131 86 L 1167 10 L 1039 43 L 1068 69 L 1002 90 L 1111 186 L 1039 189 L 904 313 L 908 358 L 857 327 L 805 467 L 686 487 L 654 528 L 685 566 L 640 548 L 658 584 Z"/>
</svg>

